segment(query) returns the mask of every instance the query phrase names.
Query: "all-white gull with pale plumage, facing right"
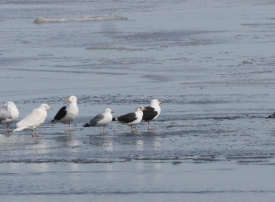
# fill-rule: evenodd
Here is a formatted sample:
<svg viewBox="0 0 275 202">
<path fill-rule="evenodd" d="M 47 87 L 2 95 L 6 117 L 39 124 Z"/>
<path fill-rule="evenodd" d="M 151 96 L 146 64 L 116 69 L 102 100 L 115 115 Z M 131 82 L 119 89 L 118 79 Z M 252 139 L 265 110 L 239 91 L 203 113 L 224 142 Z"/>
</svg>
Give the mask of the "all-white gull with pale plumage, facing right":
<svg viewBox="0 0 275 202">
<path fill-rule="evenodd" d="M 47 104 L 41 104 L 39 108 L 33 109 L 31 113 L 26 115 L 20 122 L 17 123 L 17 128 L 14 130 L 22 131 L 22 130 L 32 130 L 32 137 L 34 137 L 34 128 L 36 129 L 36 137 L 39 137 L 39 129 L 38 126 L 45 122 L 47 117 L 47 110 L 52 109 Z"/>
</svg>

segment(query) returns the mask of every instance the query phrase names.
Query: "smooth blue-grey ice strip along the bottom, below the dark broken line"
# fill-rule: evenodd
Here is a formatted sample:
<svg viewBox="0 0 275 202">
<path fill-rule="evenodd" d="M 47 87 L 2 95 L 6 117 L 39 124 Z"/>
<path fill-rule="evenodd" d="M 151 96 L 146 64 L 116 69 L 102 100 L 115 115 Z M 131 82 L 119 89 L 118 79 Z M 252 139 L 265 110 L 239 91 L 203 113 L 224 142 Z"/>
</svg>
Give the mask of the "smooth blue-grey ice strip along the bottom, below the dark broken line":
<svg viewBox="0 0 275 202">
<path fill-rule="evenodd" d="M 4 201 L 272 201 L 272 166 L 0 164 Z M 16 182 L 16 183 L 15 183 Z"/>
</svg>

